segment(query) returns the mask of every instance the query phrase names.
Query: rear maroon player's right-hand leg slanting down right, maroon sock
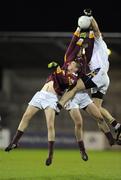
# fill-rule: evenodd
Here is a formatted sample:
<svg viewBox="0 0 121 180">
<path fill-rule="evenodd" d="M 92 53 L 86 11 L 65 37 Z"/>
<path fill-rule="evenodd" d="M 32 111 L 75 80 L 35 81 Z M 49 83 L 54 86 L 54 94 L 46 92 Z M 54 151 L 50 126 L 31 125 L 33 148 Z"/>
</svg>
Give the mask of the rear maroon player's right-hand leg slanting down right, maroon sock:
<svg viewBox="0 0 121 180">
<path fill-rule="evenodd" d="M 98 126 L 102 132 L 104 132 L 105 136 L 108 139 L 108 142 L 110 145 L 114 145 L 115 141 L 114 138 L 110 132 L 110 129 L 108 125 L 106 124 L 103 116 L 100 113 L 100 110 L 97 108 L 97 106 L 94 103 L 91 103 L 87 106 L 86 111 L 97 120 Z"/>
</svg>

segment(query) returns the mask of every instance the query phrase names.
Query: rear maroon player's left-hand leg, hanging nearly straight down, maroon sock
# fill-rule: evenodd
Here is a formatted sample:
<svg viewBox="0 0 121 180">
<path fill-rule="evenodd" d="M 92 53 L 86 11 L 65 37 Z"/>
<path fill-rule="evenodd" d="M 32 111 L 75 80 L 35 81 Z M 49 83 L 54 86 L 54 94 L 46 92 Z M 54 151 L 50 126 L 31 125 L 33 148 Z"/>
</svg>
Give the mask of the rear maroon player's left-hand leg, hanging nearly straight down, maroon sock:
<svg viewBox="0 0 121 180">
<path fill-rule="evenodd" d="M 73 108 L 69 111 L 69 113 L 75 124 L 75 136 L 80 149 L 81 157 L 84 161 L 87 161 L 88 155 L 83 142 L 83 119 L 81 113 L 79 108 Z"/>
</svg>

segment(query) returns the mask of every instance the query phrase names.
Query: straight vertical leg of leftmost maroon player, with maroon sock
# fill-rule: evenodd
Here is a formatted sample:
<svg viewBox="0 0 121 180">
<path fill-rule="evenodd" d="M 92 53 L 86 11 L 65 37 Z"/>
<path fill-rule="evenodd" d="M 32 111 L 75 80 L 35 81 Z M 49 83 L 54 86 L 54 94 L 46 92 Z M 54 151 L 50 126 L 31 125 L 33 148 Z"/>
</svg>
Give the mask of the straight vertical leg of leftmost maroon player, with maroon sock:
<svg viewBox="0 0 121 180">
<path fill-rule="evenodd" d="M 54 153 L 54 142 L 55 142 L 55 110 L 48 107 L 45 109 L 45 116 L 48 129 L 48 158 L 46 159 L 46 165 L 49 166 L 52 163 Z"/>
</svg>

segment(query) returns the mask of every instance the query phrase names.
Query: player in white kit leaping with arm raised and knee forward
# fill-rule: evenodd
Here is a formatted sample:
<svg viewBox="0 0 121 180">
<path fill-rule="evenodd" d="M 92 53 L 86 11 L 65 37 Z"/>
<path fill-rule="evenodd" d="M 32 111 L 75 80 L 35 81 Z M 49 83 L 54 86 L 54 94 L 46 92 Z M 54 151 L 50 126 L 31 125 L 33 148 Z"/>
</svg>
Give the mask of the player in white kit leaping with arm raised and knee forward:
<svg viewBox="0 0 121 180">
<path fill-rule="evenodd" d="M 107 74 L 109 69 L 107 45 L 102 39 L 100 30 L 94 18 L 92 18 L 91 25 L 95 35 L 94 51 L 92 59 L 89 62 L 89 68 L 92 72 L 88 76 L 80 78 L 77 81 L 76 86 L 64 94 L 59 101 L 58 108 L 61 109 L 69 99 L 74 97 L 76 92 L 92 88 L 91 93 L 93 101 L 97 107 L 100 108 L 102 115 L 107 118 L 111 125 L 115 128 L 117 132 L 116 139 L 118 142 L 118 138 L 121 133 L 121 125 L 117 123 L 115 118 L 113 118 L 106 109 L 102 108 L 102 98 L 103 95 L 106 94 L 109 86 L 109 77 Z"/>
</svg>

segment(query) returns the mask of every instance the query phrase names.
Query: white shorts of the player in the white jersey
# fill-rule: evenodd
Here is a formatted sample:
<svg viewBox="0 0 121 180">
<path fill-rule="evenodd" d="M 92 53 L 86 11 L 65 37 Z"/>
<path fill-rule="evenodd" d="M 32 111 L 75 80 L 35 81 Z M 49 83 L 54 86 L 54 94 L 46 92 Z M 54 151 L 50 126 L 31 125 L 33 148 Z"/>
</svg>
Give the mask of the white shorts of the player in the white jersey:
<svg viewBox="0 0 121 180">
<path fill-rule="evenodd" d="M 107 72 L 101 69 L 97 75 L 92 78 L 92 81 L 97 85 L 97 87 L 91 88 L 91 94 L 97 93 L 97 91 L 106 94 L 110 84 Z"/>
</svg>

